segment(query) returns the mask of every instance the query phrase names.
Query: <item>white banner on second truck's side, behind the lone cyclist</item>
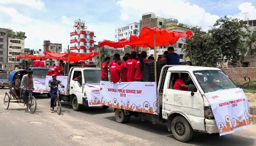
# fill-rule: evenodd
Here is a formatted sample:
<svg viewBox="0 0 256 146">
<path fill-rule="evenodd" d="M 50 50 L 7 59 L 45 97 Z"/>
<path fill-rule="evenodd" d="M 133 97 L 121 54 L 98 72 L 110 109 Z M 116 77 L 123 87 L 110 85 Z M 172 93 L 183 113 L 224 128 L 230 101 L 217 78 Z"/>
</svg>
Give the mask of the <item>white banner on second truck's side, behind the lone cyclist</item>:
<svg viewBox="0 0 256 146">
<path fill-rule="evenodd" d="M 50 92 L 49 80 L 52 80 L 52 76 L 46 76 L 46 79 L 45 79 L 45 86 L 46 86 L 48 92 Z M 59 80 L 61 82 L 61 84 L 65 86 L 65 88 L 59 88 L 60 94 L 67 95 L 68 76 L 57 76 L 57 80 Z M 60 87 L 60 85 L 59 85 L 59 87 Z"/>
</svg>

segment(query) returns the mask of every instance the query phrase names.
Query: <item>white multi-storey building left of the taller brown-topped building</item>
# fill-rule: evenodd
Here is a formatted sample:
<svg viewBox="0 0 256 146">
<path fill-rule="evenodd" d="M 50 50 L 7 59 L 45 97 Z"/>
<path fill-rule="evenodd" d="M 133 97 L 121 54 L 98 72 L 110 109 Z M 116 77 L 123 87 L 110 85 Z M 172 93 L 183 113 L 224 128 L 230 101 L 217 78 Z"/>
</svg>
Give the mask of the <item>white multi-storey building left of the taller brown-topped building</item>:
<svg viewBox="0 0 256 146">
<path fill-rule="evenodd" d="M 140 28 L 140 24 L 137 22 L 134 22 L 124 27 L 116 28 L 114 39 L 117 42 L 123 38 L 129 39 L 131 34 L 135 36 L 139 36 L 140 35 L 139 28 Z"/>
</svg>

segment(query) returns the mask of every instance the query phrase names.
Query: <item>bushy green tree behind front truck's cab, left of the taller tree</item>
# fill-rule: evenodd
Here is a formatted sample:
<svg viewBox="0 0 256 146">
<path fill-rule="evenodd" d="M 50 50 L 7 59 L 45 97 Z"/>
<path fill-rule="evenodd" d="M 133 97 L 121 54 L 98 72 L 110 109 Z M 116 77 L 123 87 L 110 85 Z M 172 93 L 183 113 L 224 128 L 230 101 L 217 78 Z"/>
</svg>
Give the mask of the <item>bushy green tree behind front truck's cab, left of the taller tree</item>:
<svg viewBox="0 0 256 146">
<path fill-rule="evenodd" d="M 221 58 L 220 49 L 215 47 L 214 39 L 205 31 L 202 31 L 201 27 L 192 27 L 193 37 L 190 39 L 191 52 L 192 52 L 192 64 L 196 66 L 210 66 L 217 67 L 219 58 Z M 188 39 L 186 44 L 182 47 L 185 55 L 189 57 Z"/>
</svg>

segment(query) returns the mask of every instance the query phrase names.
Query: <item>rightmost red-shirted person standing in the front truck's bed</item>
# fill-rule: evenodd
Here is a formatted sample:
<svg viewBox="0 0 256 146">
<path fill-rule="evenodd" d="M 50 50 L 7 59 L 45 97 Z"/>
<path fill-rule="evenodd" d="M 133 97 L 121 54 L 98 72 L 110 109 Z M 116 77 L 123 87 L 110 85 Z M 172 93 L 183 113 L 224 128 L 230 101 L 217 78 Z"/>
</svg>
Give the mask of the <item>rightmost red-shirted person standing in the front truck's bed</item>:
<svg viewBox="0 0 256 146">
<path fill-rule="evenodd" d="M 140 53 L 140 59 L 137 61 L 136 63 L 136 73 L 135 73 L 135 81 L 136 82 L 142 82 L 143 79 L 143 66 L 142 68 L 140 68 L 140 64 L 143 65 L 143 62 L 147 62 L 148 59 L 147 58 L 147 52 L 146 51 L 142 51 Z"/>
</svg>

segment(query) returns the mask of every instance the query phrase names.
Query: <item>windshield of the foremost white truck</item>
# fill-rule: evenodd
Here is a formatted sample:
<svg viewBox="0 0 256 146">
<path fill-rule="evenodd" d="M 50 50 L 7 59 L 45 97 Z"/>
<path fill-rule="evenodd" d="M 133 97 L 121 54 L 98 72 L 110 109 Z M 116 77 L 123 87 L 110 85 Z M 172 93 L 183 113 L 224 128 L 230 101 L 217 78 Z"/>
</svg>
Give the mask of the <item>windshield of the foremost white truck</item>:
<svg viewBox="0 0 256 146">
<path fill-rule="evenodd" d="M 227 75 L 219 70 L 194 71 L 204 93 L 237 88 Z"/>
</svg>

